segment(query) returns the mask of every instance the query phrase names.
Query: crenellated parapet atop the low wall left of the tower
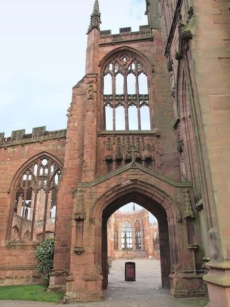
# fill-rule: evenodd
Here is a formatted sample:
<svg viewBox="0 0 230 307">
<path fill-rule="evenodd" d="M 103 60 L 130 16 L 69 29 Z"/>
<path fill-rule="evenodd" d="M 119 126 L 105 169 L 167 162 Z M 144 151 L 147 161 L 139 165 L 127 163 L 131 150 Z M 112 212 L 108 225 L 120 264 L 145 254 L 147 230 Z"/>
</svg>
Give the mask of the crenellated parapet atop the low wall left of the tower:
<svg viewBox="0 0 230 307">
<path fill-rule="evenodd" d="M 11 132 L 11 137 L 4 137 L 4 132 L 0 133 L 0 147 L 41 142 L 45 140 L 66 137 L 66 129 L 46 131 L 46 126 L 35 127 L 32 133 L 25 134 L 25 129 Z"/>
</svg>

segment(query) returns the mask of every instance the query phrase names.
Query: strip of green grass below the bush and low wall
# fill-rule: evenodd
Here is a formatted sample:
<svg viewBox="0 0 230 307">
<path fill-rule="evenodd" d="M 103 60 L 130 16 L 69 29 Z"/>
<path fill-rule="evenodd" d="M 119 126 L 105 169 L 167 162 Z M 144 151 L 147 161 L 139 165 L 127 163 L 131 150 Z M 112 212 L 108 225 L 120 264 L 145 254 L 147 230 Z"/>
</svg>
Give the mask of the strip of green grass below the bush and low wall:
<svg viewBox="0 0 230 307">
<path fill-rule="evenodd" d="M 46 292 L 46 287 L 40 284 L 0 287 L 0 300 L 60 302 L 64 294 L 64 292 Z"/>
</svg>

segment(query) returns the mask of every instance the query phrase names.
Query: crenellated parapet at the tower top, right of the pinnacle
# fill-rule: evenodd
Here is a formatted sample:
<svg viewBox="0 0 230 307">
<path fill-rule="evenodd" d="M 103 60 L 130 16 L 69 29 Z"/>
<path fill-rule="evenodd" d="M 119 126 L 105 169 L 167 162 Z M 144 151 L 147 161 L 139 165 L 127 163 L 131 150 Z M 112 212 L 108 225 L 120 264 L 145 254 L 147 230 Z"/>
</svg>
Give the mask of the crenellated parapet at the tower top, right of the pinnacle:
<svg viewBox="0 0 230 307">
<path fill-rule="evenodd" d="M 131 27 L 120 28 L 119 34 L 111 34 L 111 30 L 100 31 L 100 44 L 115 43 L 119 41 L 133 41 L 140 39 L 152 39 L 152 30 L 149 25 L 139 26 L 139 31 L 132 32 Z"/>
</svg>

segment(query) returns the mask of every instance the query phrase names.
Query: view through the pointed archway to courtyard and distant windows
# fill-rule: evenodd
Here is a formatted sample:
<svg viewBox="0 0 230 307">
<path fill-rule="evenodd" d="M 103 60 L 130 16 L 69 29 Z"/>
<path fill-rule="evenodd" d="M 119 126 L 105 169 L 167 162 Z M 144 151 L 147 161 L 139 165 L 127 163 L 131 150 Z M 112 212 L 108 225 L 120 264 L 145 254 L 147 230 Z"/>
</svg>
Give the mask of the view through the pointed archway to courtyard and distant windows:
<svg viewBox="0 0 230 307">
<path fill-rule="evenodd" d="M 136 203 L 116 210 L 107 222 L 107 249 L 105 297 L 136 295 L 138 288 L 144 298 L 162 288 L 158 221 L 148 210 Z M 125 263 L 130 261 L 136 266 L 136 282 L 125 281 Z"/>
</svg>

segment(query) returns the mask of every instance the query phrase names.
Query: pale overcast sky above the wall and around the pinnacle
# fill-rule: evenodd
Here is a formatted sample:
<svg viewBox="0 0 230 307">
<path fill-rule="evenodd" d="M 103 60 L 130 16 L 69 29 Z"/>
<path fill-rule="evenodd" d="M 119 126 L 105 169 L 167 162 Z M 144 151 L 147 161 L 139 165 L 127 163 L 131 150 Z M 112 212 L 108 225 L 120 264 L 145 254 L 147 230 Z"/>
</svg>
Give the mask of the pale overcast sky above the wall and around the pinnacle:
<svg viewBox="0 0 230 307">
<path fill-rule="evenodd" d="M 0 0 L 0 132 L 66 128 L 94 0 Z M 101 30 L 147 24 L 145 0 L 99 0 Z"/>
</svg>

